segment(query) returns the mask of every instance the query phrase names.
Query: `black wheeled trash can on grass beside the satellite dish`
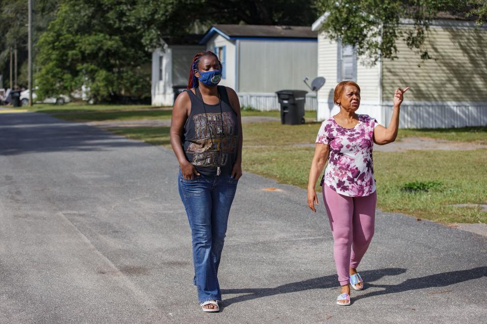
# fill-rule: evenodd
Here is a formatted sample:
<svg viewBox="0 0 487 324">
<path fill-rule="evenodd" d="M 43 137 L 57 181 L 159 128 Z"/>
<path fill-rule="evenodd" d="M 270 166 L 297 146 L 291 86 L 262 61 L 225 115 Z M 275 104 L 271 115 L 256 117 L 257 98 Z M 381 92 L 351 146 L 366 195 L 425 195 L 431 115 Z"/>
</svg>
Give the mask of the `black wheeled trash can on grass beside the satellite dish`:
<svg viewBox="0 0 487 324">
<path fill-rule="evenodd" d="M 304 124 L 304 104 L 306 94 L 304 90 L 281 90 L 277 91 L 277 99 L 281 104 L 281 124 L 299 125 Z"/>
</svg>

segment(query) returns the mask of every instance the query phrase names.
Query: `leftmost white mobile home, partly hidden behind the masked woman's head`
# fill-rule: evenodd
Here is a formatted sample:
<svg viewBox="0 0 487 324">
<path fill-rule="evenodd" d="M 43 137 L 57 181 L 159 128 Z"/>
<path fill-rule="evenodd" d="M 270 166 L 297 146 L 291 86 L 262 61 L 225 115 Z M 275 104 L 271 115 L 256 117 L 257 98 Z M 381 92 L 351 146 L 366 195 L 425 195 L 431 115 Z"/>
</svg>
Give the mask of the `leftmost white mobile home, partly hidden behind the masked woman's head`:
<svg viewBox="0 0 487 324">
<path fill-rule="evenodd" d="M 172 106 L 173 87 L 186 87 L 191 61 L 196 53 L 204 51 L 199 45 L 201 37 L 165 37 L 162 46 L 152 53 L 153 106 Z"/>
</svg>

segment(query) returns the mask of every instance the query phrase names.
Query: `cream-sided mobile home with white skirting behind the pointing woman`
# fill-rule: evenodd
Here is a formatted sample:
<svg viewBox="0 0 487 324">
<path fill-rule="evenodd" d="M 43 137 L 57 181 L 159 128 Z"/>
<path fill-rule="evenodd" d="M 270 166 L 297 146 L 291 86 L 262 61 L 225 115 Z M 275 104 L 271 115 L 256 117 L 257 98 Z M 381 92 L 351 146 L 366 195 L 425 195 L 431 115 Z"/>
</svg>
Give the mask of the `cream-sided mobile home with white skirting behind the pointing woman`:
<svg viewBox="0 0 487 324">
<path fill-rule="evenodd" d="M 319 31 L 326 15 L 312 29 Z M 411 28 L 407 21 L 402 28 Z M 326 78 L 318 92 L 318 119 L 339 109 L 333 104 L 335 85 L 351 79 L 361 88 L 359 113 L 387 126 L 397 87 L 411 87 L 401 106 L 401 128 L 446 128 L 487 125 L 487 27 L 454 19 L 432 22 L 425 41 L 432 59 L 397 42 L 397 59 L 367 66 L 350 46 L 318 34 L 318 74 Z"/>
</svg>

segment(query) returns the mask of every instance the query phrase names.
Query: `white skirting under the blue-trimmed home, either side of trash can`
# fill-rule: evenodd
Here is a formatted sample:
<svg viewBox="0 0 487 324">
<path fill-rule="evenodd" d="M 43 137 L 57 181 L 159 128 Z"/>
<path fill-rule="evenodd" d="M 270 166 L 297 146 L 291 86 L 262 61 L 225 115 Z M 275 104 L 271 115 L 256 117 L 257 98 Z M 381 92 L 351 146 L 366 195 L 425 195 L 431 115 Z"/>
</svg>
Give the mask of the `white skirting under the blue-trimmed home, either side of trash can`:
<svg viewBox="0 0 487 324">
<path fill-rule="evenodd" d="M 275 93 L 238 93 L 238 100 L 240 101 L 241 107 L 251 106 L 261 111 L 281 109 Z M 306 94 L 304 109 L 316 111 L 317 107 L 318 101 L 316 94 Z"/>
</svg>

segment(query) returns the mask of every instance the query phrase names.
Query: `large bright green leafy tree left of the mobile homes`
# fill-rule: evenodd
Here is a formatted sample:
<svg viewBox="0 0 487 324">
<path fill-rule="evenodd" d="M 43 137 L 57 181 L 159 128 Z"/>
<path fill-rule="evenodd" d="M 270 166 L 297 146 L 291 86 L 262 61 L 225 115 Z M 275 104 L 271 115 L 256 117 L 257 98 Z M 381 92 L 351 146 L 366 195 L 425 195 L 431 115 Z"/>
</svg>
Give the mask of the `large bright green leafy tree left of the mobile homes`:
<svg viewBox="0 0 487 324">
<path fill-rule="evenodd" d="M 134 28 L 135 0 L 64 0 L 37 44 L 39 95 L 85 85 L 95 101 L 150 94 L 150 55 Z M 149 90 L 148 90 L 149 89 Z"/>
</svg>

